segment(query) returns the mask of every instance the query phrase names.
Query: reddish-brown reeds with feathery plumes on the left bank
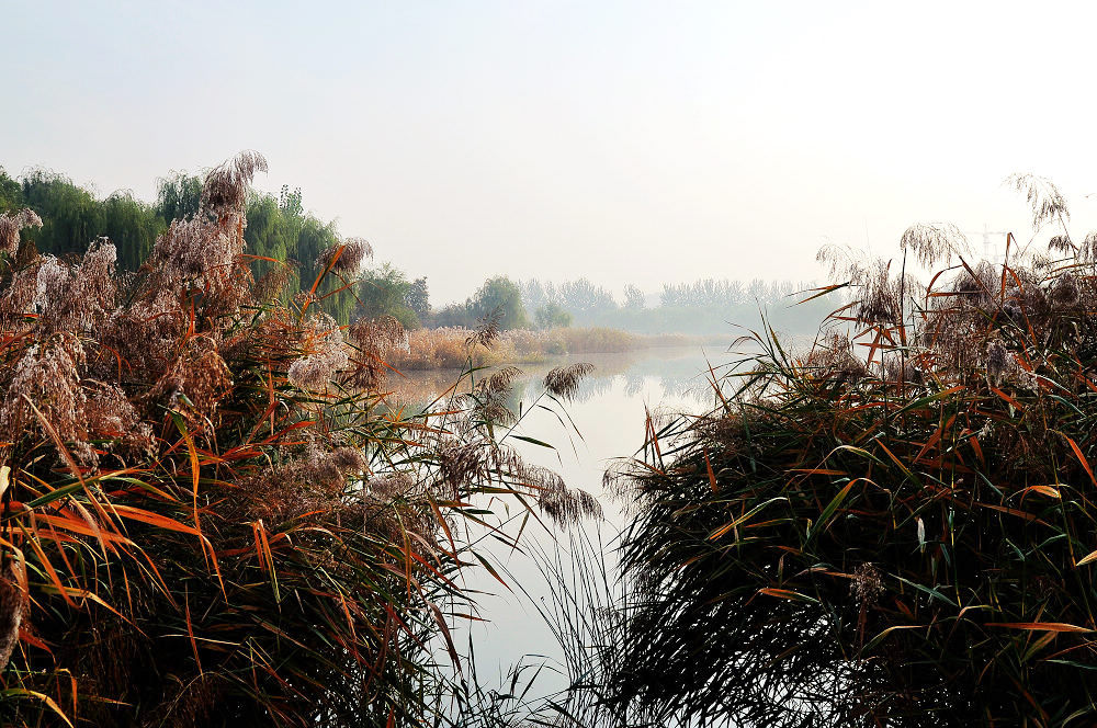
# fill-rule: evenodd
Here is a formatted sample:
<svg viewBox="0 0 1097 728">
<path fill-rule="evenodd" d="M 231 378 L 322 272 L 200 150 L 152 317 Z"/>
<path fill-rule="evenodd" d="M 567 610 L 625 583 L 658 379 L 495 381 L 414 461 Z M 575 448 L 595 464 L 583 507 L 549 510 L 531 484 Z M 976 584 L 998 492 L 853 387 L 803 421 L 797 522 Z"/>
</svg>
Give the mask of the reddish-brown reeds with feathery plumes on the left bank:
<svg viewBox="0 0 1097 728">
<path fill-rule="evenodd" d="M 264 168 L 213 170 L 136 274 L 105 240 L 39 255 L 36 216 L 0 215 L 5 725 L 430 725 L 434 647 L 456 660 L 470 612 L 454 576 L 480 562 L 457 526 L 490 527 L 476 494 L 587 503 L 496 434 L 506 372 L 386 406 L 403 332 L 340 327 L 317 293 L 352 283 L 359 243 L 287 304 L 284 264 L 251 280 Z"/>
</svg>

